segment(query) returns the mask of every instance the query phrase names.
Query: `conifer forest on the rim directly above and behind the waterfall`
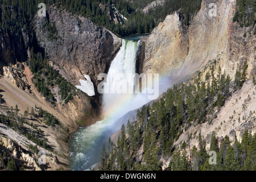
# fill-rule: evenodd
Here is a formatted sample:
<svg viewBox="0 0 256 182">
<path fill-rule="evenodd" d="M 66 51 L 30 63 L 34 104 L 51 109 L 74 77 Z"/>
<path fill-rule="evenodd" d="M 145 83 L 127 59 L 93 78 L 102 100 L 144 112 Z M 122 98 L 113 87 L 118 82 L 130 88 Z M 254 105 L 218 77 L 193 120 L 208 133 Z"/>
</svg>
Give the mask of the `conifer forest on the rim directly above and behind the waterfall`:
<svg viewBox="0 0 256 182">
<path fill-rule="evenodd" d="M 154 7 L 154 9 L 150 9 L 148 13 L 144 14 L 139 9 L 148 5 L 152 0 L 59 0 L 56 2 L 60 3 L 60 5 L 57 3 L 57 7 L 64 7 L 72 13 L 88 17 L 98 26 L 104 26 L 119 36 L 150 32 L 167 15 L 177 10 L 180 12 L 180 18 L 184 26 L 188 26 L 189 20 L 201 7 L 201 0 L 166 0 L 163 6 Z M 127 21 L 122 22 L 122 24 L 115 24 L 108 11 L 110 14 L 115 14 L 116 10 L 125 16 Z"/>
</svg>

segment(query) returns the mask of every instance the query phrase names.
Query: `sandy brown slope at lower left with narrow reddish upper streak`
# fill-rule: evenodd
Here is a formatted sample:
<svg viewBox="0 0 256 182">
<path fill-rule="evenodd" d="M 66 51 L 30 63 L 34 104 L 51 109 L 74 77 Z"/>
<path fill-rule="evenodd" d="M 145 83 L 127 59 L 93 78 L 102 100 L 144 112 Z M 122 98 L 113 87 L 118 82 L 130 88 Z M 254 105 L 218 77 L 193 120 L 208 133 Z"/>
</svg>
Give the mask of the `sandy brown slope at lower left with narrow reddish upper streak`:
<svg viewBox="0 0 256 182">
<path fill-rule="evenodd" d="M 31 81 L 31 72 L 28 68 L 26 68 L 27 80 L 32 88 L 32 94 L 29 93 L 28 90 L 22 90 L 17 88 L 8 78 L 1 77 L 0 78 L 0 93 L 3 95 L 3 100 L 5 101 L 0 106 L 0 114 L 3 113 L 6 115 L 5 106 L 15 108 L 15 105 L 19 108 L 19 114 L 23 114 L 24 111 L 29 108 L 31 111 L 31 107 L 35 108 L 42 107 L 43 110 L 48 111 L 48 113 L 53 114 L 61 123 L 61 126 L 57 126 L 55 128 L 45 126 L 44 123 L 39 123 L 36 121 L 32 121 L 34 125 L 37 125 L 41 130 L 44 131 L 46 138 L 48 139 L 48 144 L 50 144 L 56 154 L 58 155 L 58 159 L 63 163 L 68 163 L 68 145 L 64 142 L 64 138 L 66 138 L 69 134 L 67 129 L 72 127 L 72 122 L 65 118 L 59 111 L 55 110 L 51 107 L 44 98 L 40 96 L 38 91 L 35 89 L 34 84 Z M 31 122 L 31 121 L 30 121 Z M 26 147 L 30 142 L 26 141 L 24 137 L 20 136 L 13 130 L 5 130 L 5 127 L 0 128 L 1 133 L 8 136 L 10 139 L 15 140 L 17 143 L 21 144 L 21 146 Z M 61 157 L 60 157 L 61 156 Z"/>
</svg>

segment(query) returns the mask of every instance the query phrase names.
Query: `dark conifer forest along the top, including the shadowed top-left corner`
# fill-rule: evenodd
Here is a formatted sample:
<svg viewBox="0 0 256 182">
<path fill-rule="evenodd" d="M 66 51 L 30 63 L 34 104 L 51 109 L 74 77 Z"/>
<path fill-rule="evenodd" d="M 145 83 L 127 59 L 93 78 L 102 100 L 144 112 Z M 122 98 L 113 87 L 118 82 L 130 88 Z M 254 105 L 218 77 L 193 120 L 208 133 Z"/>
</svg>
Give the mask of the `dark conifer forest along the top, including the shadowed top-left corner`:
<svg viewBox="0 0 256 182">
<path fill-rule="evenodd" d="M 143 9 L 148 3 L 153 0 L 1 0 L 0 5 L 0 25 L 7 32 L 14 36 L 20 37 L 23 31 L 31 37 L 28 46 L 35 47 L 35 33 L 31 27 L 31 20 L 35 13 L 39 10 L 40 2 L 46 3 L 47 7 L 56 4 L 57 8 L 65 8 L 74 14 L 79 14 L 90 18 L 98 26 L 104 26 L 115 34 L 120 36 L 147 33 L 150 32 L 159 22 L 162 22 L 168 14 L 179 10 L 180 18 L 185 26 L 189 25 L 189 20 L 200 10 L 201 0 L 166 0 L 163 6 L 154 7 L 148 13 L 144 14 L 140 9 Z M 115 11 L 127 18 L 127 21 L 122 24 L 115 24 L 110 18 L 110 14 L 115 14 Z M 51 38 L 57 36 L 56 27 L 48 21 L 46 27 L 50 32 Z M 18 34 L 17 34 L 18 33 Z M 22 43 L 22 39 L 20 39 Z"/>
</svg>

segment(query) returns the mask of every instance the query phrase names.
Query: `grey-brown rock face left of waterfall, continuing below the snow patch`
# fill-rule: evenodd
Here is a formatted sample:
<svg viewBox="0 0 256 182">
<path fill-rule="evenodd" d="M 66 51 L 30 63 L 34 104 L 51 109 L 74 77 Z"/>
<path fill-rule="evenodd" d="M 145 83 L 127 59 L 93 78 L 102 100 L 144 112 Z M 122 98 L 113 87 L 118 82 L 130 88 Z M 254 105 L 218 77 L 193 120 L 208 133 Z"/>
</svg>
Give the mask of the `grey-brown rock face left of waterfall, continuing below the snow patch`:
<svg viewBox="0 0 256 182">
<path fill-rule="evenodd" d="M 34 25 L 39 46 L 57 65 L 54 68 L 73 85 L 80 85 L 80 79 L 85 80 L 84 75 L 89 75 L 97 88 L 97 75 L 108 72 L 122 44 L 122 40 L 106 28 L 54 5 L 47 9 L 46 17 L 36 14 Z M 58 109 L 72 121 L 86 120 L 86 124 L 91 124 L 97 121 L 100 106 L 101 97 L 96 90 L 96 96 L 89 101 L 80 94 L 66 106 L 58 105 Z"/>
</svg>

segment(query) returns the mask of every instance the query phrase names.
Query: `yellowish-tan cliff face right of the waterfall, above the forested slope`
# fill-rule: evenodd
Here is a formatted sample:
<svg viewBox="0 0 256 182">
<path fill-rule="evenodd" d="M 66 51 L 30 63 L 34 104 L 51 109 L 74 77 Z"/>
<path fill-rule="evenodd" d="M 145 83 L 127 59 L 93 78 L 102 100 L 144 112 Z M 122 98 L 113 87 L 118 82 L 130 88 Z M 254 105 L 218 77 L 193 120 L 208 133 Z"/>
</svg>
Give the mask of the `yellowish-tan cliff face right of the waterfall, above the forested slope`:
<svg viewBox="0 0 256 182">
<path fill-rule="evenodd" d="M 210 14 L 210 3 L 216 3 L 216 16 Z M 142 72 L 168 75 L 173 84 L 185 80 L 210 60 L 217 60 L 232 78 L 238 63 L 244 61 L 249 64 L 247 73 L 255 73 L 253 27 L 241 28 L 233 22 L 235 7 L 236 1 L 203 0 L 188 28 L 183 28 L 178 12 L 168 15 L 141 42 L 144 44 Z"/>
</svg>

